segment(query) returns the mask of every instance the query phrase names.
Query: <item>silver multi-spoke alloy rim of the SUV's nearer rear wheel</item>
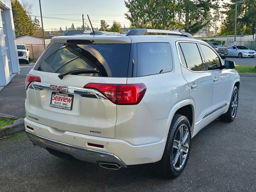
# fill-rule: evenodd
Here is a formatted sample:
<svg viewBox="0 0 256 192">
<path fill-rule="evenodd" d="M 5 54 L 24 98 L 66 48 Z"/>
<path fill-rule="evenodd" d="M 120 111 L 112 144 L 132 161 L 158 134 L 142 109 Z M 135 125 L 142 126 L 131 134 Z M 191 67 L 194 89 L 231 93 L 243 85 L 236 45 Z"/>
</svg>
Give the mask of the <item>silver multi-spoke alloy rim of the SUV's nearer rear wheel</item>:
<svg viewBox="0 0 256 192">
<path fill-rule="evenodd" d="M 176 131 L 172 146 L 172 164 L 176 170 L 182 169 L 187 158 L 190 144 L 188 127 L 182 124 Z"/>
</svg>

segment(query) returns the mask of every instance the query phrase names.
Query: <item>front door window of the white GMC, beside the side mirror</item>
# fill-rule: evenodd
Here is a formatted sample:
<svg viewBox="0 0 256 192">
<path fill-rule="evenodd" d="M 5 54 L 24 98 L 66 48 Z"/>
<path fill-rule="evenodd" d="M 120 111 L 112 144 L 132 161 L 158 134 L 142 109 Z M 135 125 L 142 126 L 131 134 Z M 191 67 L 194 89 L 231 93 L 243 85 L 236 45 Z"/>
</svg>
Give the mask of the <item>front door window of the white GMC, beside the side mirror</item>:
<svg viewBox="0 0 256 192">
<path fill-rule="evenodd" d="M 200 44 L 200 48 L 204 55 L 204 64 L 206 65 L 206 70 L 222 69 L 220 58 L 210 47 Z"/>
</svg>

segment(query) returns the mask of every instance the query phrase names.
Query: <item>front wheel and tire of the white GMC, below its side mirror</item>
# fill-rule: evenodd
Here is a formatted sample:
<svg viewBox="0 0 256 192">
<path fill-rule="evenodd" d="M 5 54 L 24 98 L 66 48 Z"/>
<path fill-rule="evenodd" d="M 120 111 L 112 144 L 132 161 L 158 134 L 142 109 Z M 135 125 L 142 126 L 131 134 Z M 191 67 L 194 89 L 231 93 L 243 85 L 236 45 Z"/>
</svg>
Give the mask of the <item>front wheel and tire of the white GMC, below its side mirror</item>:
<svg viewBox="0 0 256 192">
<path fill-rule="evenodd" d="M 238 88 L 234 86 L 228 111 L 220 116 L 220 120 L 224 122 L 232 122 L 236 118 L 236 112 L 238 108 Z"/>
</svg>

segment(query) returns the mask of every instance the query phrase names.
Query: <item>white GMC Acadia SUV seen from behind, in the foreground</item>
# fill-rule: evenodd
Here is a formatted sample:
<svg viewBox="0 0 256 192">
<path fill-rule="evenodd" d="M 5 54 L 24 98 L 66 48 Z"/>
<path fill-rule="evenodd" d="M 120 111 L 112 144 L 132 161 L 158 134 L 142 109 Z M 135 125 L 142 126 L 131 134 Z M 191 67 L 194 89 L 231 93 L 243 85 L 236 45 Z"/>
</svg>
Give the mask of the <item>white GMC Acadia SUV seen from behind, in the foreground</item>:
<svg viewBox="0 0 256 192">
<path fill-rule="evenodd" d="M 173 178 L 193 136 L 236 117 L 234 67 L 185 32 L 54 37 L 26 78 L 26 133 L 62 158 L 110 169 L 152 163 Z"/>
</svg>

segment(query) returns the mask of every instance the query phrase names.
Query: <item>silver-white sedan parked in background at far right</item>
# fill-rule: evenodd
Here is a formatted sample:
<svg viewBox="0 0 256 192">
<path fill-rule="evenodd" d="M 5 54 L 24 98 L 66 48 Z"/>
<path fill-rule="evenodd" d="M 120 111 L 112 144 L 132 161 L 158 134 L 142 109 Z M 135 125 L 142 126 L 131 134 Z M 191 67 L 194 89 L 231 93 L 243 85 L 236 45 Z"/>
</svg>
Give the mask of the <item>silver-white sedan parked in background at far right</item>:
<svg viewBox="0 0 256 192">
<path fill-rule="evenodd" d="M 236 56 L 239 58 L 243 58 L 243 57 L 254 58 L 256 56 L 256 52 L 254 50 L 248 49 L 245 46 L 229 46 L 228 56 Z"/>
</svg>

